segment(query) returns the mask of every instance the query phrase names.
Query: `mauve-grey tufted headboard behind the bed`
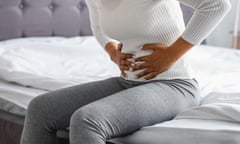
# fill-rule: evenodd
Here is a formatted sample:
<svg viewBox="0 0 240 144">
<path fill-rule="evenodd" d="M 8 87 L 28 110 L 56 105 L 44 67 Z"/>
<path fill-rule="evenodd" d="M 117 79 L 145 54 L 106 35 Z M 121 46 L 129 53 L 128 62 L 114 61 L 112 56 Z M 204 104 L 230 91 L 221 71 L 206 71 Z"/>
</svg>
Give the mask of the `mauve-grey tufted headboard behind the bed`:
<svg viewBox="0 0 240 144">
<path fill-rule="evenodd" d="M 187 21 L 191 10 L 183 11 Z M 0 0 L 0 40 L 91 34 L 84 0 Z"/>
</svg>

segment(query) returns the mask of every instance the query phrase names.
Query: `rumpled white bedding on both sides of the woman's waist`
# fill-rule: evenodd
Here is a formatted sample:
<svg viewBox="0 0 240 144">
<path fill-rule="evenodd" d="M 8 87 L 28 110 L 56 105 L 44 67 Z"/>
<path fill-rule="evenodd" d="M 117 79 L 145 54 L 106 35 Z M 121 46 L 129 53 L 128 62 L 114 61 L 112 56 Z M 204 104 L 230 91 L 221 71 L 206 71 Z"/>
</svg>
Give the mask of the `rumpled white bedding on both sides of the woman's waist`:
<svg viewBox="0 0 240 144">
<path fill-rule="evenodd" d="M 200 85 L 202 104 L 239 99 L 240 51 L 200 45 L 187 57 Z M 2 94 L 0 98 L 22 108 L 42 92 L 119 75 L 119 69 L 93 36 L 0 42 L 0 79 L 9 87 L 34 89 L 20 101 L 17 96 Z M 16 93 L 16 88 L 8 88 L 8 92 L 13 89 Z"/>
</svg>

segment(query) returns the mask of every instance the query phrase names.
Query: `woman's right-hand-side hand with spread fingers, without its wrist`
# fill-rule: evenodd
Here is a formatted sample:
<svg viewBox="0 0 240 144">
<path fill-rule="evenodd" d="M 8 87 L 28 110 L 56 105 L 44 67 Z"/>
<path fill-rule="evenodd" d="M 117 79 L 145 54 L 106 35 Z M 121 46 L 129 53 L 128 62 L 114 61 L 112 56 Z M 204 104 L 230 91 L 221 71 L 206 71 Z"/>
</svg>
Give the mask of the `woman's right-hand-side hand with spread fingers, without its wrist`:
<svg viewBox="0 0 240 144">
<path fill-rule="evenodd" d="M 144 69 L 144 71 L 138 73 L 136 78 L 146 76 L 145 79 L 149 80 L 156 77 L 158 74 L 167 70 L 171 65 L 173 65 L 178 58 L 174 56 L 174 52 L 171 52 L 169 47 L 162 44 L 145 44 L 142 50 L 152 50 L 150 55 L 135 58 L 135 62 L 144 62 L 139 65 L 131 66 L 131 71 L 136 71 Z"/>
</svg>

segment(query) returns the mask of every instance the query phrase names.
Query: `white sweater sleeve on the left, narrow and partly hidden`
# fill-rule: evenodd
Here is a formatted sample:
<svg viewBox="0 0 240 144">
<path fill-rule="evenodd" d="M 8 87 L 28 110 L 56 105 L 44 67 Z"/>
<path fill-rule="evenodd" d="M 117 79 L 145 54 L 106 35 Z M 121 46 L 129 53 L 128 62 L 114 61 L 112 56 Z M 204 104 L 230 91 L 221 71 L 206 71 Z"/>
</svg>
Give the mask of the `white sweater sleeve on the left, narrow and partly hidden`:
<svg viewBox="0 0 240 144">
<path fill-rule="evenodd" d="M 96 37 L 97 41 L 101 44 L 101 46 L 105 48 L 105 45 L 109 41 L 118 42 L 117 40 L 112 39 L 106 36 L 106 34 L 104 34 L 104 31 L 102 30 L 99 22 L 98 2 L 96 2 L 96 0 L 86 0 L 86 4 L 89 10 L 89 17 L 90 17 L 90 23 L 91 23 L 91 29 L 92 29 L 93 35 Z"/>
</svg>

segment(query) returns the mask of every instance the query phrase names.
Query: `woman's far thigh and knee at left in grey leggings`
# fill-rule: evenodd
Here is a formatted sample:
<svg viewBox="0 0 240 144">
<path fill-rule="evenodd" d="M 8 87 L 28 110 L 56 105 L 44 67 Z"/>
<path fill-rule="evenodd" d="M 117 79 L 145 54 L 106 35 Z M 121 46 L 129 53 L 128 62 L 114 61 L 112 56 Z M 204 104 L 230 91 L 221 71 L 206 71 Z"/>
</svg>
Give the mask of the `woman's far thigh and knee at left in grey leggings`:
<svg viewBox="0 0 240 144">
<path fill-rule="evenodd" d="M 29 104 L 26 124 L 47 122 L 56 129 L 64 129 L 75 110 L 123 89 L 119 77 L 112 77 L 40 95 Z"/>
</svg>

